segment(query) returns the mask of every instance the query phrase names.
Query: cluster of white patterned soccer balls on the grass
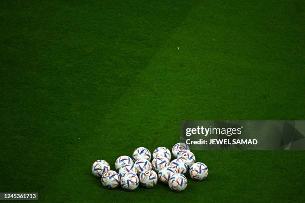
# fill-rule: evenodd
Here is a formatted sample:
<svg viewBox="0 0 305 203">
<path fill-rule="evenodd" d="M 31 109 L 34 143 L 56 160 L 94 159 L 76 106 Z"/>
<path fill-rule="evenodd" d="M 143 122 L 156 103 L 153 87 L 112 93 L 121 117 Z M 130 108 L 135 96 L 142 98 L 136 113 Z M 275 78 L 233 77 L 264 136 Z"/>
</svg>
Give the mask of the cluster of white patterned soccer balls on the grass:
<svg viewBox="0 0 305 203">
<path fill-rule="evenodd" d="M 189 175 L 193 180 L 202 181 L 208 175 L 205 164 L 196 162 L 195 156 L 185 143 L 177 143 L 172 147 L 175 158 L 170 162 L 171 154 L 166 147 L 158 147 L 152 153 L 144 147 L 137 148 L 133 159 L 120 156 L 115 163 L 116 171 L 111 171 L 107 161 L 97 160 L 92 165 L 94 176 L 101 178 L 103 186 L 113 189 L 121 185 L 126 191 L 138 188 L 139 183 L 145 188 L 152 188 L 157 181 L 168 184 L 175 192 L 183 191 L 187 186 L 184 174 L 189 168 Z M 134 163 L 134 161 L 135 163 Z"/>
</svg>

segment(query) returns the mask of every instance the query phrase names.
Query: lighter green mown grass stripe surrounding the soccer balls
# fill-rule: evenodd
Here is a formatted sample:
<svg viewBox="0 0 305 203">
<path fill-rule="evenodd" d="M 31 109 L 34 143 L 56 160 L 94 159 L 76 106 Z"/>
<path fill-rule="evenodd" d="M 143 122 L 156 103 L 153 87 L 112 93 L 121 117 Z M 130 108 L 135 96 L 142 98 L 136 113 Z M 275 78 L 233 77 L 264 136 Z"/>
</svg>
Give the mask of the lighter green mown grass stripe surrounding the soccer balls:
<svg viewBox="0 0 305 203">
<path fill-rule="evenodd" d="M 104 190 L 99 181 L 92 178 L 88 167 L 98 158 L 93 151 L 103 149 L 101 158 L 110 161 L 114 168 L 118 156 L 131 155 L 133 149 L 143 144 L 149 146 L 150 150 L 161 145 L 170 148 L 178 139 L 180 119 L 304 119 L 298 110 L 302 101 L 290 106 L 289 103 L 295 101 L 298 95 L 291 94 L 287 87 L 293 86 L 297 93 L 302 93 L 303 90 L 298 89 L 303 83 L 302 77 L 289 71 L 290 66 L 298 69 L 301 63 L 295 60 L 294 55 L 276 52 L 278 46 L 288 50 L 292 48 L 293 45 L 282 42 L 287 40 L 289 34 L 298 33 L 298 25 L 296 29 L 274 39 L 275 33 L 283 28 L 275 24 L 269 28 L 274 30 L 265 33 L 264 29 L 258 27 L 270 25 L 260 18 L 258 21 L 253 18 L 262 5 L 219 3 L 218 12 L 209 9 L 211 6 L 206 3 L 197 6 L 176 28 L 149 66 L 135 78 L 131 88 L 113 104 L 103 122 L 95 129 L 97 141 L 88 139 L 80 146 L 81 154 L 72 157 L 68 163 L 70 167 L 58 174 L 54 188 L 59 186 L 65 191 L 70 182 L 78 182 L 76 188 L 90 191 L 91 200 L 110 194 L 112 201 L 122 200 L 122 195 L 119 195 L 122 194 L 121 190 Z M 248 13 L 248 10 L 237 9 L 247 6 L 254 10 Z M 230 19 L 230 26 L 214 23 L 232 10 L 238 13 Z M 253 20 L 243 24 L 238 21 L 240 16 Z M 262 38 L 256 38 L 257 35 Z M 266 42 L 266 39 L 269 40 Z M 260 44 L 274 46 L 273 52 Z M 300 49 L 300 45 L 297 47 Z M 278 61 L 281 57 L 287 64 Z M 281 74 L 277 71 L 279 65 L 282 67 Z M 292 78 L 295 83 L 291 83 Z M 291 97 L 278 94 L 280 90 Z M 260 100 L 265 102 L 258 102 Z M 279 100 L 282 104 L 274 105 Z M 287 108 L 290 110 L 287 111 Z M 153 190 L 138 189 L 133 193 L 123 193 L 124 201 L 140 201 L 148 195 L 158 196 L 160 193 L 172 201 L 182 197 L 186 201 L 200 201 L 202 196 L 207 201 L 220 201 L 223 198 L 246 201 L 257 197 L 257 192 L 262 194 L 262 200 L 271 201 L 278 196 L 286 199 L 289 194 L 298 195 L 297 188 L 304 185 L 300 181 L 304 170 L 298 168 L 304 161 L 304 152 L 196 151 L 195 155 L 198 161 L 210 167 L 209 179 L 205 183 L 189 181 L 183 194 L 171 193 L 166 186 L 158 184 Z M 289 164 L 289 169 L 298 174 L 292 177 L 293 181 L 278 179 L 283 175 L 289 176 L 289 171 L 281 165 L 283 160 Z M 80 166 L 78 175 L 72 180 L 67 178 L 69 168 L 77 164 Z M 95 184 L 97 187 L 93 188 Z M 284 190 L 286 187 L 290 190 Z M 237 197 L 239 193 L 246 195 Z M 69 200 L 72 196 L 65 198 Z M 162 202 L 162 197 L 158 201 Z M 88 196 L 81 195 L 79 199 L 85 200 Z"/>
</svg>

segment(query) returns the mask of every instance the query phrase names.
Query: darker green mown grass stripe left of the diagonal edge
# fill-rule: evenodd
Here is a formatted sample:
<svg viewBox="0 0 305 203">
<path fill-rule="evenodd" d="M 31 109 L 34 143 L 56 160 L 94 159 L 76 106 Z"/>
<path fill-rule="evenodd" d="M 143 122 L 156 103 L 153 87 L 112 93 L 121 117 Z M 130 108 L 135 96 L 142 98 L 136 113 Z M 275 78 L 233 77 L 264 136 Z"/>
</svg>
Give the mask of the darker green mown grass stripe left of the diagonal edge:
<svg viewBox="0 0 305 203">
<path fill-rule="evenodd" d="M 78 137 L 94 136 L 191 3 L 2 3 L 0 189 L 43 200 Z"/>
</svg>

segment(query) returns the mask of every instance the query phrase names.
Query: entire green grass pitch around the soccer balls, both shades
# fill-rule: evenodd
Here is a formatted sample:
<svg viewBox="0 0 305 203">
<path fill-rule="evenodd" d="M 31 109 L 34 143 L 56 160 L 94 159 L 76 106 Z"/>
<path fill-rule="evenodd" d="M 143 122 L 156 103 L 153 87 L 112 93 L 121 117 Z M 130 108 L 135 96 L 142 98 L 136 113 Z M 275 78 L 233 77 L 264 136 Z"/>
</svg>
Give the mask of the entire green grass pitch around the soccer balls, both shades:
<svg viewBox="0 0 305 203">
<path fill-rule="evenodd" d="M 182 193 L 91 174 L 181 120 L 304 120 L 302 0 L 1 0 L 0 192 L 40 202 L 304 202 L 304 151 L 194 151 Z M 188 176 L 189 177 L 189 176 Z"/>
</svg>

